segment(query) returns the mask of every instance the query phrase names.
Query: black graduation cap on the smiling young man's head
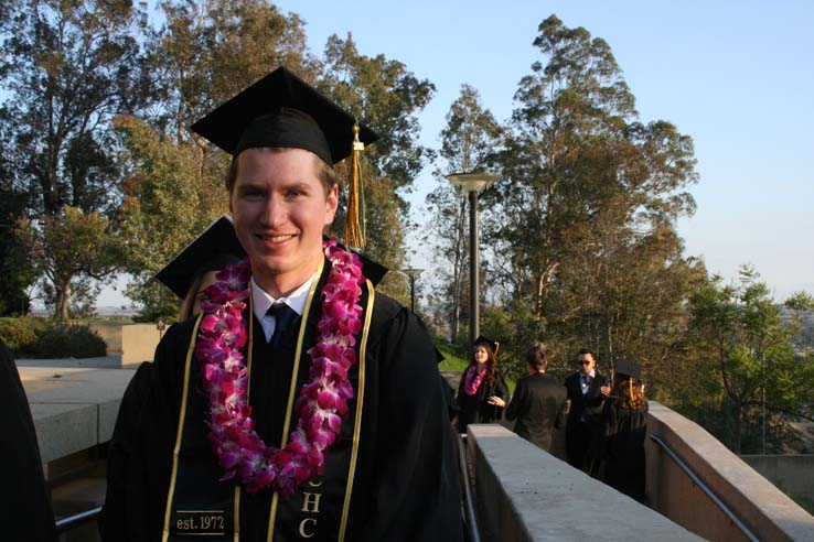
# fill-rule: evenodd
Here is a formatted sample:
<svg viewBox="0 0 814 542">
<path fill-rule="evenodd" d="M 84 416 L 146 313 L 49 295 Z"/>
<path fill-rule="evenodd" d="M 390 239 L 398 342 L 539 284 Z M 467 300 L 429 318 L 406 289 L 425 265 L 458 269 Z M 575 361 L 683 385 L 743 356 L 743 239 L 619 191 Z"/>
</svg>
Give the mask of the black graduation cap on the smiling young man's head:
<svg viewBox="0 0 814 542">
<path fill-rule="evenodd" d="M 356 119 L 332 99 L 279 67 L 206 117 L 192 130 L 236 156 L 255 147 L 296 148 L 333 165 L 351 154 Z M 358 124 L 362 143 L 378 136 Z"/>
</svg>

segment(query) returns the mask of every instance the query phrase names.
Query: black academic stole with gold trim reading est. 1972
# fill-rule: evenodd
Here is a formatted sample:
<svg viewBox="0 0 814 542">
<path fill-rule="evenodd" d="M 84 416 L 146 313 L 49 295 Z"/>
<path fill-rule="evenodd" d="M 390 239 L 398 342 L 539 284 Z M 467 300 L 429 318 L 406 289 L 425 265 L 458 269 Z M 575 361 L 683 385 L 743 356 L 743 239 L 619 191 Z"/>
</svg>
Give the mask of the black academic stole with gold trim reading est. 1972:
<svg viewBox="0 0 814 542">
<path fill-rule="evenodd" d="M 318 282 L 320 284 L 317 284 Z M 293 360 L 282 442 L 274 443 L 280 448 L 288 443 L 289 434 L 297 422 L 293 404 L 299 395 L 302 381 L 308 378 L 311 365 L 311 358 L 306 351 L 308 347 L 303 346 L 303 343 L 309 342 L 303 339 L 308 335 L 307 324 L 311 319 L 309 313 L 318 306 L 313 303 L 314 292 L 321 291 L 323 284 L 324 280 L 314 281 L 306 304 L 306 314 L 300 321 L 296 348 L 288 348 L 287 353 L 280 353 L 281 356 Z M 317 301 L 320 301 L 320 297 L 317 297 Z M 341 434 L 325 452 L 324 474 L 304 483 L 289 498 L 282 498 L 276 491 L 269 490 L 247 495 L 239 486 L 231 481 L 218 481 L 224 469 L 217 465 L 217 458 L 206 438 L 208 427 L 203 423 L 207 398 L 200 390 L 201 364 L 193 355 L 197 336 L 197 325 L 195 325 L 186 355 L 184 391 L 173 451 L 163 541 L 195 539 L 207 541 L 265 540 L 266 542 L 344 540 L 361 436 L 365 389 L 364 357 L 374 299 L 373 285 L 367 281 L 360 299 L 364 325 L 356 342 L 356 365 L 349 370 L 349 380 L 354 389 L 354 397 L 347 401 L 349 413 L 343 420 Z M 249 318 L 251 314 L 249 306 Z M 253 329 L 254 326 L 248 327 Z M 264 339 L 265 337 L 257 337 L 257 340 Z M 254 351 L 254 340 L 256 339 L 253 337 L 253 332 L 249 332 L 248 353 Z M 254 362 L 260 361 L 254 360 Z M 248 355 L 246 365 L 250 371 L 251 354 Z M 250 394 L 249 389 L 249 399 Z M 243 505 L 242 499 L 245 501 Z M 250 513 L 251 517 L 242 520 L 242 513 Z M 258 522 L 263 523 L 261 535 L 256 529 Z M 249 532 L 240 533 L 242 524 L 244 528 L 251 524 Z"/>
</svg>

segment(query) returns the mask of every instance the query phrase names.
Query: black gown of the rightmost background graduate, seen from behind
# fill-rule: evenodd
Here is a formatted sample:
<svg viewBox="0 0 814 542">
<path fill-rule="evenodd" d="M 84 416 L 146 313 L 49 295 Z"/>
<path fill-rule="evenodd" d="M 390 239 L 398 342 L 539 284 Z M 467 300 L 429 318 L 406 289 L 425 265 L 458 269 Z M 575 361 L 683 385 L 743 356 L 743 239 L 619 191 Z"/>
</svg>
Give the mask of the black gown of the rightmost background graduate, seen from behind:
<svg viewBox="0 0 814 542">
<path fill-rule="evenodd" d="M 604 438 L 595 453 L 604 462 L 604 483 L 640 502 L 644 502 L 646 414 L 646 403 L 642 410 L 630 410 L 615 399 L 607 400 L 601 416 Z"/>
</svg>

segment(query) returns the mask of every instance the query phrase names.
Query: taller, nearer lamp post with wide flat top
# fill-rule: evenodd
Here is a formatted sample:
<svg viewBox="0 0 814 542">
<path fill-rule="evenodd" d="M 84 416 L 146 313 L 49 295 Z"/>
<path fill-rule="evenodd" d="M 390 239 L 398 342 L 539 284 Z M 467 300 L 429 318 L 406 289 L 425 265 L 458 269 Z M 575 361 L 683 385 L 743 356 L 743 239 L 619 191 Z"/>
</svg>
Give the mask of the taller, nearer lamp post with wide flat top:
<svg viewBox="0 0 814 542">
<path fill-rule="evenodd" d="M 496 173 L 456 173 L 447 175 L 454 185 L 469 193 L 469 348 L 481 334 L 480 330 L 480 256 L 478 240 L 478 193 L 500 178 Z M 470 353 L 471 354 L 471 353 Z"/>
</svg>

